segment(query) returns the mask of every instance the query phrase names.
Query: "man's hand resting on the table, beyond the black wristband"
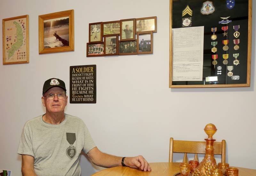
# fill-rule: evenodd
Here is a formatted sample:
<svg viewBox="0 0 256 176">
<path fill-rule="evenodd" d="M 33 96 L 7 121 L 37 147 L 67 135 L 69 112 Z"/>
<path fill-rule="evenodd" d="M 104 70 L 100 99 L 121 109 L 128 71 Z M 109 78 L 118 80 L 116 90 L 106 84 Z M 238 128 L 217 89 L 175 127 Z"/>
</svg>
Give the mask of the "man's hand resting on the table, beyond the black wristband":
<svg viewBox="0 0 256 176">
<path fill-rule="evenodd" d="M 132 168 L 139 168 L 142 171 L 151 171 L 150 165 L 141 155 L 137 157 L 125 157 L 124 164 Z"/>
</svg>

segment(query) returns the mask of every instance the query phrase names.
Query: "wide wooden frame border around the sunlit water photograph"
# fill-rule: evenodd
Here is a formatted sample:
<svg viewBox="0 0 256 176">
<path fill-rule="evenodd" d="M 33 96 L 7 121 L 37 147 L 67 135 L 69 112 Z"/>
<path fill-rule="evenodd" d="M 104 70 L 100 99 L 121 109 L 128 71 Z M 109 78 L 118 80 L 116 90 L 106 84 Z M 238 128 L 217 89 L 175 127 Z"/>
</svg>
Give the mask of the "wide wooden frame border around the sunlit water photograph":
<svg viewBox="0 0 256 176">
<path fill-rule="evenodd" d="M 44 48 L 44 20 L 69 17 L 69 46 Z M 74 51 L 74 10 L 60 11 L 38 16 L 39 54 Z"/>
</svg>

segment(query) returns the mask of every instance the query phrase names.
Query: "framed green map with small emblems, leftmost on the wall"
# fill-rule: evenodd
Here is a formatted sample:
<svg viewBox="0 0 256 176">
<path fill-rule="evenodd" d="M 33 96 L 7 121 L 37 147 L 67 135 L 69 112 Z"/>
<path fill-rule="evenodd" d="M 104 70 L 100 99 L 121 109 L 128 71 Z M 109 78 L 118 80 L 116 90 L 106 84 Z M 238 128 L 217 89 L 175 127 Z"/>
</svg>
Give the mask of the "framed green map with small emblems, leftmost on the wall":
<svg viewBox="0 0 256 176">
<path fill-rule="evenodd" d="M 28 15 L 3 19 L 3 65 L 29 63 Z"/>
</svg>

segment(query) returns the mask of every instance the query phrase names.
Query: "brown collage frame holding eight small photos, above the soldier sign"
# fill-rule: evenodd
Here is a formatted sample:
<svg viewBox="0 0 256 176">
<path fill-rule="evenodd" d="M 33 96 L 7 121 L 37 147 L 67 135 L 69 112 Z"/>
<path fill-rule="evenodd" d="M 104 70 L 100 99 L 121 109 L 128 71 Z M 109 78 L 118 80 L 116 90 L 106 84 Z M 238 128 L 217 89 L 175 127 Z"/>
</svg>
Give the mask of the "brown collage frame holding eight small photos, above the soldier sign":
<svg viewBox="0 0 256 176">
<path fill-rule="evenodd" d="M 152 54 L 156 24 L 156 17 L 90 23 L 86 56 Z"/>
</svg>

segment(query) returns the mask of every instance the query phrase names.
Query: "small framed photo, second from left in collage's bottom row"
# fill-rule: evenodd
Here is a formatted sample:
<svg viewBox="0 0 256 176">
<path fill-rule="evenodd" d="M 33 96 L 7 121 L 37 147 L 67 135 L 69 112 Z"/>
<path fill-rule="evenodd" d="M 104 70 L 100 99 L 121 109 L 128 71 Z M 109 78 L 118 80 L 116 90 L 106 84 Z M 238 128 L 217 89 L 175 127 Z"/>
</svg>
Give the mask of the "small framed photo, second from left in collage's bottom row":
<svg viewBox="0 0 256 176">
<path fill-rule="evenodd" d="M 118 55 L 118 34 L 105 35 L 105 56 L 115 56 Z"/>
</svg>

